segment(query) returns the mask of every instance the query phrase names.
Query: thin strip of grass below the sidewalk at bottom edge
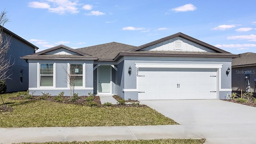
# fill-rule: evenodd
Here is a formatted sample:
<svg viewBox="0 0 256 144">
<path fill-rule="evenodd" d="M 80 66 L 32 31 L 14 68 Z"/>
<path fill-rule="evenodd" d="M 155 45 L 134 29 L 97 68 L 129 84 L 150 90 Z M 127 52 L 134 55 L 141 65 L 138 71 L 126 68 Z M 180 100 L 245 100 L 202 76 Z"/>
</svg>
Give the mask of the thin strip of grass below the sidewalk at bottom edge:
<svg viewBox="0 0 256 144">
<path fill-rule="evenodd" d="M 156 140 L 111 140 L 90 142 L 44 142 L 20 144 L 203 144 L 205 139 L 156 139 Z"/>
</svg>

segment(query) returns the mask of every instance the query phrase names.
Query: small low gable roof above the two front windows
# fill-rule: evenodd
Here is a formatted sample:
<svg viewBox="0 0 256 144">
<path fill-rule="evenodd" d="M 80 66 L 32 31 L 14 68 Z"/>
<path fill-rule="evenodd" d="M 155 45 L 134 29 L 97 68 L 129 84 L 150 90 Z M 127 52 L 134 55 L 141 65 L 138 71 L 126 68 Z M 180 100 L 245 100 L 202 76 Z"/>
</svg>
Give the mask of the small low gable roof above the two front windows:
<svg viewBox="0 0 256 144">
<path fill-rule="evenodd" d="M 66 50 L 69 50 L 71 52 L 74 52 L 78 55 L 65 55 L 65 54 L 46 54 L 48 52 L 57 50 L 59 48 L 64 48 Z M 21 57 L 22 59 L 26 59 L 26 60 L 33 60 L 33 59 L 58 59 L 58 60 L 98 60 L 98 58 L 91 56 L 89 54 L 86 54 L 84 52 L 80 52 L 78 50 L 75 50 L 73 48 L 70 48 L 68 46 L 64 46 L 62 44 L 58 45 L 58 46 L 54 46 L 52 48 L 49 48 L 47 50 L 43 50 L 41 52 L 37 52 L 35 54 L 31 54 L 28 56 L 23 56 Z"/>
</svg>

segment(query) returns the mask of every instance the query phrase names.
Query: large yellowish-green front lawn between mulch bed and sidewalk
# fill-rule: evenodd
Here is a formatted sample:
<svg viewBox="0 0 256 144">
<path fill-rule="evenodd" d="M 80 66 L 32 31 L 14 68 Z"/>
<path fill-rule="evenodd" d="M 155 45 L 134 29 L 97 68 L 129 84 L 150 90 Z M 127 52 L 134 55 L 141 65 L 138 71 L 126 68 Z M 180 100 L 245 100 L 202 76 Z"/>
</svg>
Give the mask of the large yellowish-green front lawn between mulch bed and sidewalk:
<svg viewBox="0 0 256 144">
<path fill-rule="evenodd" d="M 0 113 L 0 127 L 143 126 L 177 124 L 148 107 L 89 107 L 46 100 L 10 100 L 12 112 Z"/>
</svg>

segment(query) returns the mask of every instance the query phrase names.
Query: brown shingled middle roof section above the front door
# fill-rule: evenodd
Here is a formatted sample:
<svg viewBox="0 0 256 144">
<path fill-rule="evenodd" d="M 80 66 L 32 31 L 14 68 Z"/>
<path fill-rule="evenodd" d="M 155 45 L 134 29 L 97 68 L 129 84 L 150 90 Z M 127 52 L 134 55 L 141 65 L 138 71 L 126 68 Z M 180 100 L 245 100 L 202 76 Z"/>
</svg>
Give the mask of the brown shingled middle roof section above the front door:
<svg viewBox="0 0 256 144">
<path fill-rule="evenodd" d="M 95 56 L 98 58 L 98 61 L 113 61 L 116 55 L 118 55 L 120 52 L 124 52 L 132 48 L 136 48 L 136 46 L 121 44 L 118 42 L 110 42 L 96 46 L 78 48 L 76 50 Z"/>
</svg>

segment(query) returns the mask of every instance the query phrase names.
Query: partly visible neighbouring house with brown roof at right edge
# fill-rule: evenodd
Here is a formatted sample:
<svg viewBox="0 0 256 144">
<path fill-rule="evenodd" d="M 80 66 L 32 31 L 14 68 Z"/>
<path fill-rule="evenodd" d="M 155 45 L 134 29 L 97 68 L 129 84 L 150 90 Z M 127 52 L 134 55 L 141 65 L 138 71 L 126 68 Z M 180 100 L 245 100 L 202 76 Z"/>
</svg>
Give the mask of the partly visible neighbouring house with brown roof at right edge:
<svg viewBox="0 0 256 144">
<path fill-rule="evenodd" d="M 239 54 L 232 61 L 232 90 L 255 92 L 256 87 L 256 53 Z"/>
</svg>

